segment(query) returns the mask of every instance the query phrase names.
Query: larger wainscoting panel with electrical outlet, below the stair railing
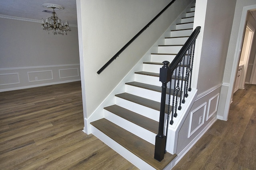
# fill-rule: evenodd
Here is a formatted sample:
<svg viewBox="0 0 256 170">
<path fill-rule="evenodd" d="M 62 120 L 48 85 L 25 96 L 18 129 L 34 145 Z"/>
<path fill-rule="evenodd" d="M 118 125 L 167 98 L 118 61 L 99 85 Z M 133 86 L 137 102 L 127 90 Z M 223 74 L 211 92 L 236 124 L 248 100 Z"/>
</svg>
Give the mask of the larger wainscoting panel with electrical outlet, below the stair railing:
<svg viewBox="0 0 256 170">
<path fill-rule="evenodd" d="M 206 114 L 206 105 L 207 103 L 204 102 L 202 105 L 198 106 L 196 109 L 190 112 L 188 138 L 191 135 L 193 135 L 193 133 L 195 133 L 204 124 L 204 117 Z M 199 121 L 200 117 L 201 117 L 201 122 Z"/>
</svg>

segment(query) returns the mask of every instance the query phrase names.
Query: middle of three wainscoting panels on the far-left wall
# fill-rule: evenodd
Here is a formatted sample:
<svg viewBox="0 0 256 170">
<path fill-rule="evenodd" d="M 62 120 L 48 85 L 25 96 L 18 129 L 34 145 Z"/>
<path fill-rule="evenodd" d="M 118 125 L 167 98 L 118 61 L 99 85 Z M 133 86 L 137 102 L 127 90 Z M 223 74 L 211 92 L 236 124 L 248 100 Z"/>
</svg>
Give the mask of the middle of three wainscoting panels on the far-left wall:
<svg viewBox="0 0 256 170">
<path fill-rule="evenodd" d="M 53 80 L 52 70 L 28 72 L 29 82 L 37 82 L 44 80 Z"/>
</svg>

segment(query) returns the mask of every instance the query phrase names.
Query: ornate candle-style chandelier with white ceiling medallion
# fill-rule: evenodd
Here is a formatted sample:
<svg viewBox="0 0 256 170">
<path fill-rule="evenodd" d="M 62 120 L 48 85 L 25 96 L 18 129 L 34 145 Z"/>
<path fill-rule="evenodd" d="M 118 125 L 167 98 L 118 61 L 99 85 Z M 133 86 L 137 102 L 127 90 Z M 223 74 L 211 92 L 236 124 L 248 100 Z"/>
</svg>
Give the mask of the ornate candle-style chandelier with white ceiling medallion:
<svg viewBox="0 0 256 170">
<path fill-rule="evenodd" d="M 46 31 L 52 31 L 54 35 L 56 34 L 62 34 L 66 33 L 67 31 L 71 31 L 70 27 L 68 26 L 68 21 L 66 20 L 65 23 L 63 23 L 60 18 L 58 18 L 55 10 L 63 10 L 64 7 L 56 4 L 43 4 L 43 7 L 46 9 L 52 9 L 52 16 L 46 17 L 46 21 L 42 18 L 42 28 Z"/>
</svg>

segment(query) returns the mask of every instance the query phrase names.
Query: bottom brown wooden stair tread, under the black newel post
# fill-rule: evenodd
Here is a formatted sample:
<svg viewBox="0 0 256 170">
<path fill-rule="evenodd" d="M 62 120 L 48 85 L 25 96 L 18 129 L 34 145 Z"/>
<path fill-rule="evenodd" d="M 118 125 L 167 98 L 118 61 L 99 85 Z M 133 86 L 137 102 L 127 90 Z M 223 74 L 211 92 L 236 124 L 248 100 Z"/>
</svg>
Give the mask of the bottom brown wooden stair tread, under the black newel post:
<svg viewBox="0 0 256 170">
<path fill-rule="evenodd" d="M 164 155 L 164 159 L 159 162 L 154 159 L 154 145 L 126 131 L 107 119 L 103 118 L 91 122 L 91 125 L 157 170 L 164 169 L 177 156 L 176 154 L 173 155 L 167 152 Z"/>
</svg>

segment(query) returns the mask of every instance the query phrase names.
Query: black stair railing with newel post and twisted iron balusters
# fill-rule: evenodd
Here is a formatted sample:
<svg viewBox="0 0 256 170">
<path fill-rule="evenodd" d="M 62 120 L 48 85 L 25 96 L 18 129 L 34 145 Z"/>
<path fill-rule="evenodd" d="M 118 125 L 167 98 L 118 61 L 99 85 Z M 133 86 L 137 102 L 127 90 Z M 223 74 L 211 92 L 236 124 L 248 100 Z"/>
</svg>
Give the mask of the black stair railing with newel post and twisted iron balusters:
<svg viewBox="0 0 256 170">
<path fill-rule="evenodd" d="M 184 46 L 180 49 L 172 63 L 164 61 L 162 68 L 160 68 L 159 81 L 162 82 L 162 95 L 158 134 L 156 135 L 155 154 L 154 158 L 161 161 L 166 152 L 166 138 L 168 133 L 168 125 L 166 125 L 166 132 L 164 135 L 164 116 L 166 108 L 166 89 L 169 86 L 169 101 L 167 111 L 167 122 L 174 123 L 174 117 L 177 117 L 177 110 L 181 110 L 182 103 L 185 103 L 185 98 L 188 97 L 188 92 L 191 91 L 192 69 L 194 61 L 194 50 L 196 38 L 200 32 L 201 27 L 198 26 L 190 35 Z M 169 83 L 170 82 L 170 83 Z M 169 84 L 168 84 L 169 83 Z M 171 89 L 174 89 L 173 95 Z M 172 100 L 171 100 L 172 96 Z M 172 102 L 172 104 L 171 104 Z M 170 120 L 171 119 L 171 120 Z"/>
</svg>

